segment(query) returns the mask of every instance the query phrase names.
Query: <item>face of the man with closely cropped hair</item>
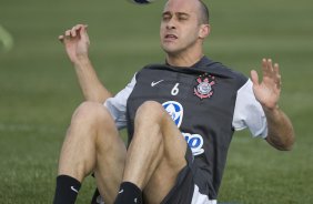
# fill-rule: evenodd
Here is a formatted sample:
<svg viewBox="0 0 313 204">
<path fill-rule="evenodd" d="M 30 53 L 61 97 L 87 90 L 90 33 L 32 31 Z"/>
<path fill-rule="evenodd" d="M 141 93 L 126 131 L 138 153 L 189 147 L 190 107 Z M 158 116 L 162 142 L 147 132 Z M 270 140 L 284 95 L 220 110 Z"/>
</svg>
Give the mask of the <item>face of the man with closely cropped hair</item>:
<svg viewBox="0 0 313 204">
<path fill-rule="evenodd" d="M 168 54 L 188 54 L 199 49 L 199 2 L 195 0 L 169 0 L 165 4 L 160 38 Z"/>
</svg>

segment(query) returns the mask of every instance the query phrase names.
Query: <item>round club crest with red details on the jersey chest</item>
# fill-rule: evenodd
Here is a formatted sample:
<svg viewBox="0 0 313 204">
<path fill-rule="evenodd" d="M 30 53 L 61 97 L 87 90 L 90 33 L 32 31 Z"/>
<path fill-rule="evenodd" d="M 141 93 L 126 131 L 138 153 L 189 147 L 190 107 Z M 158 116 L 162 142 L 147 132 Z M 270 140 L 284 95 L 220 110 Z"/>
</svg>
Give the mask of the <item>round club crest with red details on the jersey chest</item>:
<svg viewBox="0 0 313 204">
<path fill-rule="evenodd" d="M 212 86 L 215 84 L 215 78 L 208 73 L 200 75 L 195 79 L 198 85 L 194 86 L 193 93 L 201 100 L 209 99 L 213 95 Z"/>
</svg>

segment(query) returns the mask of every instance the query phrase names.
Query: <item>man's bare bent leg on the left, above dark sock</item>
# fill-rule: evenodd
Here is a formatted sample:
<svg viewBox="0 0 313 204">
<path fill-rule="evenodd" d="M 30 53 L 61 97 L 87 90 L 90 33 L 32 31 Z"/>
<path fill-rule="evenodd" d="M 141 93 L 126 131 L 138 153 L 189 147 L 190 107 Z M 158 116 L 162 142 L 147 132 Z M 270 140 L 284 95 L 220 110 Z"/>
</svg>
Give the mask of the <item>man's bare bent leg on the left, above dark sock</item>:
<svg viewBox="0 0 313 204">
<path fill-rule="evenodd" d="M 113 203 L 122 178 L 125 145 L 108 110 L 84 102 L 72 116 L 59 161 L 59 175 L 82 182 L 91 172 L 107 203 Z"/>
</svg>

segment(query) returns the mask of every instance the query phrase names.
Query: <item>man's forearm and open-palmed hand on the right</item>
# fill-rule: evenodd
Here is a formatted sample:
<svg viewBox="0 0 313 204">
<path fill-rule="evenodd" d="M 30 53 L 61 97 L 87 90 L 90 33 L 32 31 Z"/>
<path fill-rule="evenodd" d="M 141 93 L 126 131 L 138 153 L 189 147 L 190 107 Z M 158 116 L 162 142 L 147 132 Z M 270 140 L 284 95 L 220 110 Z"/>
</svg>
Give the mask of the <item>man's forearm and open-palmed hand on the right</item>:
<svg viewBox="0 0 313 204">
<path fill-rule="evenodd" d="M 294 143 L 294 131 L 286 114 L 280 110 L 277 102 L 281 94 L 281 74 L 279 64 L 272 60 L 262 61 L 263 80 L 259 83 L 256 71 L 251 71 L 253 92 L 261 103 L 267 120 L 266 141 L 277 150 L 291 150 Z"/>
</svg>

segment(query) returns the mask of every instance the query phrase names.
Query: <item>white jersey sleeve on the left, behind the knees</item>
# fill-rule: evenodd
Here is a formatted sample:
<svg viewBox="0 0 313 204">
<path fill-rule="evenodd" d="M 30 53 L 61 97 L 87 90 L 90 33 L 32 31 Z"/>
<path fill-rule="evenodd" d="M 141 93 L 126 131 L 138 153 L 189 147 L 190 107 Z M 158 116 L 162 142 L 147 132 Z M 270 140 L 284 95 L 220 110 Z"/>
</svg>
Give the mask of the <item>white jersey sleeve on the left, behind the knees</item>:
<svg viewBox="0 0 313 204">
<path fill-rule="evenodd" d="M 131 82 L 123 90 L 121 90 L 115 96 L 107 99 L 107 101 L 103 103 L 103 105 L 111 113 L 119 130 L 127 126 L 127 102 L 135 85 L 135 82 L 137 80 L 134 74 Z"/>
</svg>

